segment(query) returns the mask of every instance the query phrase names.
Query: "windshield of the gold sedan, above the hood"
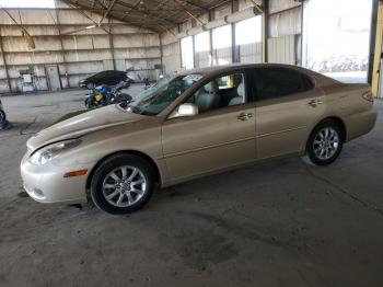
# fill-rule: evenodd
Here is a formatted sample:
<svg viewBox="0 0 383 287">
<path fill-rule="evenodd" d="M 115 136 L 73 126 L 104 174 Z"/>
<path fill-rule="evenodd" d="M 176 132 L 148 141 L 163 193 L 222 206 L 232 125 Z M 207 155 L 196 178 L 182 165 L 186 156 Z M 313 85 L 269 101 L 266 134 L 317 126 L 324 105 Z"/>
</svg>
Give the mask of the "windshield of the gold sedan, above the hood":
<svg viewBox="0 0 383 287">
<path fill-rule="evenodd" d="M 158 115 L 201 78 L 201 74 L 164 77 L 140 93 L 128 105 L 128 111 L 141 115 Z"/>
</svg>

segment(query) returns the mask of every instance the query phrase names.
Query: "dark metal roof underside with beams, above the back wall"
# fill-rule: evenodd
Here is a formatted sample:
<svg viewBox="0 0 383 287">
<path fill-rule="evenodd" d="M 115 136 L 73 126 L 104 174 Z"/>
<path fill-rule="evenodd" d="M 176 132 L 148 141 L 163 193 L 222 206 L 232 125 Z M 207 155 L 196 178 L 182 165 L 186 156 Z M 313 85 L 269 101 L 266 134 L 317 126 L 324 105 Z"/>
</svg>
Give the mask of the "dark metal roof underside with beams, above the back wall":
<svg viewBox="0 0 383 287">
<path fill-rule="evenodd" d="M 165 32 L 228 0 L 63 0 L 65 3 L 127 24 Z"/>
</svg>

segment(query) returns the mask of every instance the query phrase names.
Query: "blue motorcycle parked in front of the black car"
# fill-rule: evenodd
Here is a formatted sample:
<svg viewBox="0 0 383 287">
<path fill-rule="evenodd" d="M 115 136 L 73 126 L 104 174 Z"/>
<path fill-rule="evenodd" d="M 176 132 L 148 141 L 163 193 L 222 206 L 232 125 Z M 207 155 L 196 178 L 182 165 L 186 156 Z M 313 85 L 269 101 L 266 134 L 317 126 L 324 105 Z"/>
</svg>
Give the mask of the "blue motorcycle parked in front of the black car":
<svg viewBox="0 0 383 287">
<path fill-rule="evenodd" d="M 131 96 L 127 93 L 121 93 L 121 90 L 129 88 L 129 85 L 130 81 L 120 81 L 115 89 L 112 89 L 106 84 L 92 89 L 85 99 L 86 108 L 96 108 L 111 104 L 130 102 Z"/>
</svg>

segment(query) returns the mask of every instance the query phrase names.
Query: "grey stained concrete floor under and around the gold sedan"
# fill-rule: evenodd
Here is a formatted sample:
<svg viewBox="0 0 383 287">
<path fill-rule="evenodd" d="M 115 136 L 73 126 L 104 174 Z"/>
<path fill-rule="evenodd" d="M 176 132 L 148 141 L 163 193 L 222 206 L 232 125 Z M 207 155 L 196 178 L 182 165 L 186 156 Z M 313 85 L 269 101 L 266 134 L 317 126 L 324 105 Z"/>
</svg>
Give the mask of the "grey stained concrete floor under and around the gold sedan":
<svg viewBox="0 0 383 287">
<path fill-rule="evenodd" d="M 13 128 L 0 133 L 0 286 L 383 286 L 382 117 L 330 167 L 210 176 L 129 216 L 23 197 L 25 141 L 83 95 L 1 99 Z"/>
</svg>

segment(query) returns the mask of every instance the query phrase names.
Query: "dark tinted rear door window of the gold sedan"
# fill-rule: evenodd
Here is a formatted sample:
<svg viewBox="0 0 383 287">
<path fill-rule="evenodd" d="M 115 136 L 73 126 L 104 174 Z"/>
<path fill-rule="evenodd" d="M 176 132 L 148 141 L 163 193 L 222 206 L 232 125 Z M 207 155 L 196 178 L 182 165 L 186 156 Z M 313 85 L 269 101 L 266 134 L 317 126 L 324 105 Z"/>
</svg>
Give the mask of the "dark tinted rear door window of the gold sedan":
<svg viewBox="0 0 383 287">
<path fill-rule="evenodd" d="M 265 68 L 258 69 L 256 73 L 256 93 L 259 101 L 301 93 L 312 88 L 312 81 L 295 70 Z"/>
</svg>

